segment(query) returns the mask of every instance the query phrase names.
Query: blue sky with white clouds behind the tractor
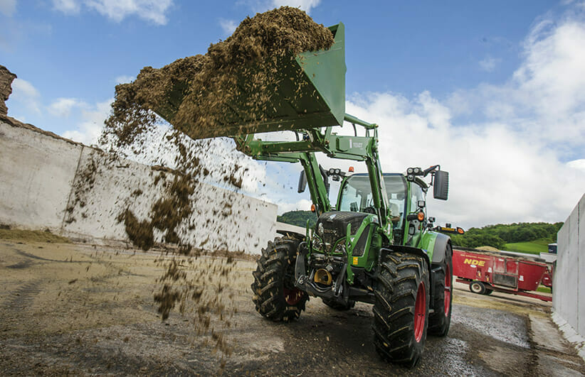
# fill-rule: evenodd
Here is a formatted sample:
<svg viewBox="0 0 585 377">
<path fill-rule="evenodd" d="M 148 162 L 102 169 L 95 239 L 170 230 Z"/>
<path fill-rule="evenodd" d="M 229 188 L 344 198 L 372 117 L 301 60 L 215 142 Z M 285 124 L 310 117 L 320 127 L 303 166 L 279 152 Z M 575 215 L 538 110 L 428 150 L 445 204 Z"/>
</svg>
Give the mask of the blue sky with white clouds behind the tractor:
<svg viewBox="0 0 585 377">
<path fill-rule="evenodd" d="M 9 115 L 92 143 L 117 82 L 283 4 L 345 24 L 347 111 L 381 125 L 386 170 L 450 170 L 439 221 L 564 221 L 585 192 L 581 1 L 0 0 Z M 254 166 L 248 193 L 307 205 L 298 167 Z"/>
</svg>

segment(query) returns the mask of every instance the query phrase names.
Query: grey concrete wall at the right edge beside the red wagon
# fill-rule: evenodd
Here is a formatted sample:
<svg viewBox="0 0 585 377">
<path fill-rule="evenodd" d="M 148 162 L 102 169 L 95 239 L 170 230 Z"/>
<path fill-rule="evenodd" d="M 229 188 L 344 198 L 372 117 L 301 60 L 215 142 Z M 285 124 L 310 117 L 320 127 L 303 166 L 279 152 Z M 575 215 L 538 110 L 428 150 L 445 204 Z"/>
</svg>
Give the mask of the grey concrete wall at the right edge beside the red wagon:
<svg viewBox="0 0 585 377">
<path fill-rule="evenodd" d="M 585 195 L 559 230 L 557 245 L 554 319 L 573 342 L 579 343 L 582 340 L 578 339 L 585 337 Z"/>
</svg>

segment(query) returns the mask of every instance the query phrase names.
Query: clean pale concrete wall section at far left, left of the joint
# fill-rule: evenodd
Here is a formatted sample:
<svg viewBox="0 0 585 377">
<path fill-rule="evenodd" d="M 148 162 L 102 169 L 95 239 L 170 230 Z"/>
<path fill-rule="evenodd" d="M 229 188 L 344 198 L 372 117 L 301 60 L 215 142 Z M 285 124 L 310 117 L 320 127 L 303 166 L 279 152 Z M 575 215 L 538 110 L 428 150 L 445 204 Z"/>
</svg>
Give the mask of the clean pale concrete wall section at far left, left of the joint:
<svg viewBox="0 0 585 377">
<path fill-rule="evenodd" d="M 60 231 L 81 150 L 0 121 L 0 223 Z"/>
</svg>

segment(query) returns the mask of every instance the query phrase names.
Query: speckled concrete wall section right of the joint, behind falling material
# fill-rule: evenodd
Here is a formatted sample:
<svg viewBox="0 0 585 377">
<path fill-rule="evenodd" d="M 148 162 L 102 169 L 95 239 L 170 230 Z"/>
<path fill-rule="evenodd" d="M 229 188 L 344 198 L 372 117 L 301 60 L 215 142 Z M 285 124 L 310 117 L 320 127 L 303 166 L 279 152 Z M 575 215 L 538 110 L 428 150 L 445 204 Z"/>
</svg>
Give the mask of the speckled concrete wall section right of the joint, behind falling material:
<svg viewBox="0 0 585 377">
<path fill-rule="evenodd" d="M 165 195 L 175 174 L 85 148 L 73 182 L 63 234 L 128 241 L 118 217 L 126 209 L 151 220 L 152 204 Z M 275 231 L 278 207 L 231 190 L 194 182 L 191 217 L 176 229 L 181 239 L 207 251 L 260 253 Z M 155 241 L 163 234 L 154 232 Z"/>
</svg>

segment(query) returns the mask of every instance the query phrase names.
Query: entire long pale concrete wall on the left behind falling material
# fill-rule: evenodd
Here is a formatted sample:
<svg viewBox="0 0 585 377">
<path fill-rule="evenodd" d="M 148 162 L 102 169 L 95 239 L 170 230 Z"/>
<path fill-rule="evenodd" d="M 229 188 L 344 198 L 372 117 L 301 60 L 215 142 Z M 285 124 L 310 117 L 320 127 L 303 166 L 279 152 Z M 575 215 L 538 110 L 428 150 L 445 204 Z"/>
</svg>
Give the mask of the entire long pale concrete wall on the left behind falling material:
<svg viewBox="0 0 585 377">
<path fill-rule="evenodd" d="M 0 119 L 0 224 L 80 239 L 127 241 L 122 210 L 147 219 L 173 173 Z M 196 183 L 179 234 L 194 246 L 259 253 L 273 239 L 277 206 Z M 155 234 L 160 241 L 162 234 Z"/>
</svg>

